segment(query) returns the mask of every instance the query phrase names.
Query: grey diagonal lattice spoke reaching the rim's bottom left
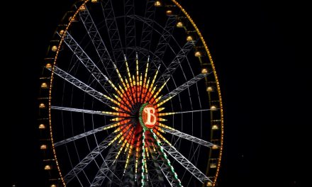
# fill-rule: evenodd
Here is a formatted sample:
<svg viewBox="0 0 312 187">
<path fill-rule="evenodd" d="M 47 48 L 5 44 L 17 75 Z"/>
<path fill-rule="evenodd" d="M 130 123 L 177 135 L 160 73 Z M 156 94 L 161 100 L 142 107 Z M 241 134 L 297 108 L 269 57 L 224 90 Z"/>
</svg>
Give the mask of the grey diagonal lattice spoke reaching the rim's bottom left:
<svg viewBox="0 0 312 187">
<path fill-rule="evenodd" d="M 106 137 L 106 139 L 103 140 L 103 142 L 101 142 L 86 157 L 84 157 L 84 159 L 82 159 L 81 162 L 79 162 L 76 166 L 74 166 L 74 168 L 64 176 L 65 183 L 69 183 L 70 181 L 72 181 L 72 179 L 74 179 L 77 176 L 77 174 L 80 173 L 80 171 L 82 171 L 97 156 L 99 156 L 99 154 L 101 154 L 101 152 L 103 152 L 103 150 L 106 149 L 106 147 L 108 147 L 108 144 L 111 142 L 111 140 L 113 140 L 114 137 L 115 135 L 113 134 L 108 135 L 108 137 Z"/>
</svg>

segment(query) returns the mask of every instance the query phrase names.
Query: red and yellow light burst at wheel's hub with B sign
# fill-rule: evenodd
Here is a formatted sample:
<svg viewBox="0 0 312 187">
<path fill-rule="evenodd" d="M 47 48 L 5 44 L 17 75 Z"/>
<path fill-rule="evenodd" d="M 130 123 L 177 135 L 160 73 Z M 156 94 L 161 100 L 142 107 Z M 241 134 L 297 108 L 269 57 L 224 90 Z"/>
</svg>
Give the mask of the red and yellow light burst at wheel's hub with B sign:
<svg viewBox="0 0 312 187">
<path fill-rule="evenodd" d="M 139 72 L 138 55 L 135 60 L 136 68 L 134 74 L 130 72 L 126 57 L 125 62 L 126 75 L 123 75 L 124 77 L 119 72 L 116 64 L 114 64 L 119 77 L 119 84 L 114 83 L 113 80 L 108 80 L 115 93 L 111 93 L 110 96 L 104 96 L 113 103 L 110 106 L 112 111 L 102 112 L 115 117 L 111 119 L 115 123 L 105 128 L 105 130 L 115 128 L 112 133 L 115 133 L 116 137 L 109 143 L 109 145 L 112 145 L 113 142 L 117 142 L 119 147 L 115 161 L 121 154 L 126 154 L 126 164 L 123 174 L 134 172 L 133 181 L 138 182 L 140 186 L 144 186 L 148 182 L 148 160 L 154 163 L 164 163 L 175 180 L 179 181 L 169 159 L 167 159 L 167 155 L 160 145 L 160 140 L 171 145 L 162 136 L 162 133 L 165 133 L 162 128 L 171 128 L 162 124 L 166 119 L 160 117 L 174 113 L 160 113 L 160 111 L 165 109 L 160 108 L 160 106 L 169 101 L 169 99 L 158 102 L 162 98 L 159 94 L 167 84 L 167 81 L 162 85 L 155 84 L 159 67 L 154 72 L 152 79 L 147 76 L 148 60 L 145 71 L 143 73 Z"/>
</svg>

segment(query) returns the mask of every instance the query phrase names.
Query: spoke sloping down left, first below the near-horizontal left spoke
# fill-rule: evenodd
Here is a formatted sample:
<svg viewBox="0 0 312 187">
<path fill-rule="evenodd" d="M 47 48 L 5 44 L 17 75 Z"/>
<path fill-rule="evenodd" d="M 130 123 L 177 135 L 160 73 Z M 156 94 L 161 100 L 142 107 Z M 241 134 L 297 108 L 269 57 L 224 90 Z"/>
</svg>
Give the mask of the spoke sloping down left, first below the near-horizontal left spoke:
<svg viewBox="0 0 312 187">
<path fill-rule="evenodd" d="M 69 138 L 67 138 L 66 140 L 62 140 L 62 141 L 60 141 L 60 142 L 56 142 L 56 143 L 54 144 L 54 146 L 55 146 L 55 147 L 58 147 L 58 146 L 60 146 L 60 145 L 65 145 L 65 144 L 67 144 L 68 142 L 72 142 L 72 141 L 78 140 L 78 139 L 80 139 L 80 138 L 82 138 L 82 137 L 87 137 L 87 136 L 89 136 L 89 135 L 93 135 L 93 134 L 96 133 L 96 132 L 100 132 L 100 131 L 102 131 L 102 130 L 107 130 L 108 128 L 114 128 L 114 127 L 116 127 L 116 126 L 118 126 L 118 125 L 122 125 L 124 121 L 125 121 L 125 120 L 121 120 L 121 121 L 117 121 L 117 122 L 114 122 L 114 123 L 110 123 L 110 124 L 104 125 L 104 126 L 102 126 L 102 127 L 100 127 L 100 128 L 96 128 L 96 129 L 94 129 L 94 130 L 89 130 L 88 132 L 84 132 L 84 133 L 82 133 L 82 134 L 75 135 L 74 137 L 69 137 Z M 128 123 L 129 123 L 129 122 L 128 122 Z M 127 123 L 126 123 L 126 124 L 127 124 Z M 126 125 L 126 124 L 125 124 L 125 125 Z"/>
</svg>

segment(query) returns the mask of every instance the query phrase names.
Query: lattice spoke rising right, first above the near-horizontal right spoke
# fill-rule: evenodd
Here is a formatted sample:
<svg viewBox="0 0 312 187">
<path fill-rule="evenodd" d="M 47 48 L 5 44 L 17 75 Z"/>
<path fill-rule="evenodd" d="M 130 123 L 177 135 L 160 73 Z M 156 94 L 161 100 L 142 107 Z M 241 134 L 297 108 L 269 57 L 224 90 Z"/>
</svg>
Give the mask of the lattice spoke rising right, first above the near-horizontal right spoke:
<svg viewBox="0 0 312 187">
<path fill-rule="evenodd" d="M 190 79 L 186 83 L 184 83 L 181 86 L 177 87 L 177 89 L 174 89 L 170 93 L 168 93 L 165 96 L 163 96 L 162 98 L 160 98 L 160 100 L 157 101 L 157 107 L 162 106 L 162 104 L 166 103 L 167 101 L 169 101 L 174 96 L 177 96 L 177 94 L 179 94 L 182 91 L 184 91 L 185 89 L 189 88 L 189 86 L 195 84 L 196 82 L 200 81 L 204 77 L 207 77 L 209 74 L 211 74 L 211 72 L 205 73 L 205 74 L 198 74 L 198 75 L 196 75 L 196 77 L 193 77 L 192 79 Z"/>
</svg>

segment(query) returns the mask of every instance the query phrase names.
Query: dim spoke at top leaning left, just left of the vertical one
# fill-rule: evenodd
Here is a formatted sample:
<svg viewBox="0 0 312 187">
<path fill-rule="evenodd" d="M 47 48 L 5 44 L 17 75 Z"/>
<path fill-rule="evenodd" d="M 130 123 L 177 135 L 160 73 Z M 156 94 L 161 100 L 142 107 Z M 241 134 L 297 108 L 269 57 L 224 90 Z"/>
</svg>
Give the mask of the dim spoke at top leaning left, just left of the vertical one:
<svg viewBox="0 0 312 187">
<path fill-rule="evenodd" d="M 102 10 L 104 13 L 106 28 L 108 30 L 109 38 L 111 38 L 111 47 L 113 49 L 113 58 L 115 62 L 123 62 L 123 45 L 121 43 L 121 36 L 118 30 L 116 16 L 113 11 L 113 4 L 111 0 L 106 2 L 101 1 Z"/>
</svg>

